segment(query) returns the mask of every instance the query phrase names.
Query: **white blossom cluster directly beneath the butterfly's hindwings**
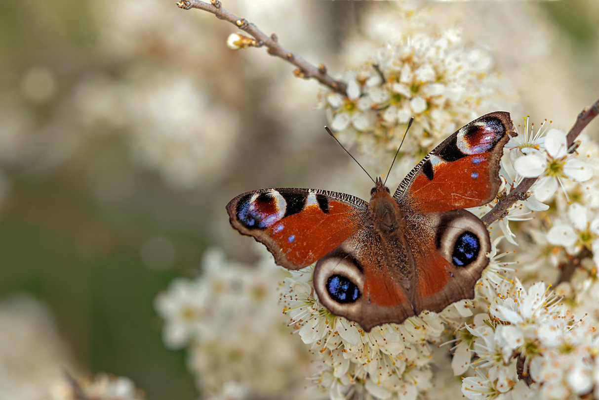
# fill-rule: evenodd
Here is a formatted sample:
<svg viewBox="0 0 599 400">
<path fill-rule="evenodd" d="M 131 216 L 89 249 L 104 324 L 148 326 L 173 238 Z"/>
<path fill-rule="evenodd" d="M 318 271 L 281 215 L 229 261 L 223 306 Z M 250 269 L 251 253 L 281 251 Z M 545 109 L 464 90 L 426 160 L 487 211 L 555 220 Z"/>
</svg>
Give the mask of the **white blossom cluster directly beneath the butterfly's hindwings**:
<svg viewBox="0 0 599 400">
<path fill-rule="evenodd" d="M 319 302 L 312 275 L 312 268 L 293 272 L 283 282 L 281 300 L 289 326 L 322 360 L 314 380 L 329 390 L 331 399 L 359 392 L 365 398 L 409 400 L 429 389 L 429 342 L 440 338 L 444 329 L 438 314 L 423 312 L 403 324 L 384 324 L 364 332 Z"/>
</svg>

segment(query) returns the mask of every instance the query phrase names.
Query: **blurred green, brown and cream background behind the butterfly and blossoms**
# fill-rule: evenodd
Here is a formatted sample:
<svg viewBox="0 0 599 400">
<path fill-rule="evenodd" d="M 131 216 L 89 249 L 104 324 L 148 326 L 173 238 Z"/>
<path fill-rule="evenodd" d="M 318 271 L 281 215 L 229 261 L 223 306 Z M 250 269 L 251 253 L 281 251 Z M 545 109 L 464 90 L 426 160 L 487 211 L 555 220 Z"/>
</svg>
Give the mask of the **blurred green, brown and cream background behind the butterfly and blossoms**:
<svg viewBox="0 0 599 400">
<path fill-rule="evenodd" d="M 567 130 L 599 97 L 597 0 L 423 4 L 491 53 L 513 119 Z M 407 29 L 394 2 L 223 7 L 333 76 Z M 124 375 L 148 399 L 209 395 L 154 303 L 210 246 L 257 262 L 225 204 L 267 187 L 367 197 L 323 130 L 319 85 L 264 49 L 228 49 L 235 31 L 174 1 L 0 2 L 0 399 L 47 398 L 63 368 Z"/>
</svg>

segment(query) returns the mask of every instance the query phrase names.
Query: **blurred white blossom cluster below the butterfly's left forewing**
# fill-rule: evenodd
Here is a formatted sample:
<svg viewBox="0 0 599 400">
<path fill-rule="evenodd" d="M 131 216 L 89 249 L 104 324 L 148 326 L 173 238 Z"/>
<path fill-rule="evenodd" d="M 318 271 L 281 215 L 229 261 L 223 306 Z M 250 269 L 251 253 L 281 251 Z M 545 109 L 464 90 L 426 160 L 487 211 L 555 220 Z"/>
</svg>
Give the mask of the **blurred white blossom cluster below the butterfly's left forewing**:
<svg viewBox="0 0 599 400">
<path fill-rule="evenodd" d="M 277 306 L 274 288 L 283 270 L 264 254 L 248 267 L 208 250 L 202 275 L 176 279 L 156 298 L 165 344 L 187 347 L 189 368 L 208 393 L 283 396 L 308 374 L 308 354 Z"/>
</svg>

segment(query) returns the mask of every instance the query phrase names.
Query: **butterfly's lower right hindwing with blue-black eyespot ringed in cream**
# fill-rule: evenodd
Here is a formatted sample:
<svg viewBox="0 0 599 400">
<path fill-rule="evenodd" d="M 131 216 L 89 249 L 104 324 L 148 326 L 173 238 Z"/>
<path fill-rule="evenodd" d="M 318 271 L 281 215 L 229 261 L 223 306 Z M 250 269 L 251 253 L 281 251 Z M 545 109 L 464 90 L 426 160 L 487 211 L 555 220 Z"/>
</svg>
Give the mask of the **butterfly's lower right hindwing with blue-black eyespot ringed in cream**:
<svg viewBox="0 0 599 400">
<path fill-rule="evenodd" d="M 467 210 L 406 215 L 403 231 L 412 257 L 410 297 L 416 314 L 439 312 L 474 298 L 474 285 L 489 264 L 485 224 Z"/>
</svg>

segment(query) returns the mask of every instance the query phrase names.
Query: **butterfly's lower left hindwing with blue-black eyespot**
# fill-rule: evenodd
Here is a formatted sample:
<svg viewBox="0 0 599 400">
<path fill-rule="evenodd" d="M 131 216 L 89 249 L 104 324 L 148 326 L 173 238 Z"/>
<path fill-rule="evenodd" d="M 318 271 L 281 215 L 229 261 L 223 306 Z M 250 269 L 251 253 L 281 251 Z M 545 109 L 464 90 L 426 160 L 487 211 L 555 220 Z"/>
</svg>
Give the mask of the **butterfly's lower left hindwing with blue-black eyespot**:
<svg viewBox="0 0 599 400">
<path fill-rule="evenodd" d="M 314 289 L 332 314 L 359 323 L 366 332 L 384 323 L 402 323 L 415 315 L 405 287 L 403 242 L 389 243 L 373 230 L 361 229 L 316 263 Z"/>
</svg>

